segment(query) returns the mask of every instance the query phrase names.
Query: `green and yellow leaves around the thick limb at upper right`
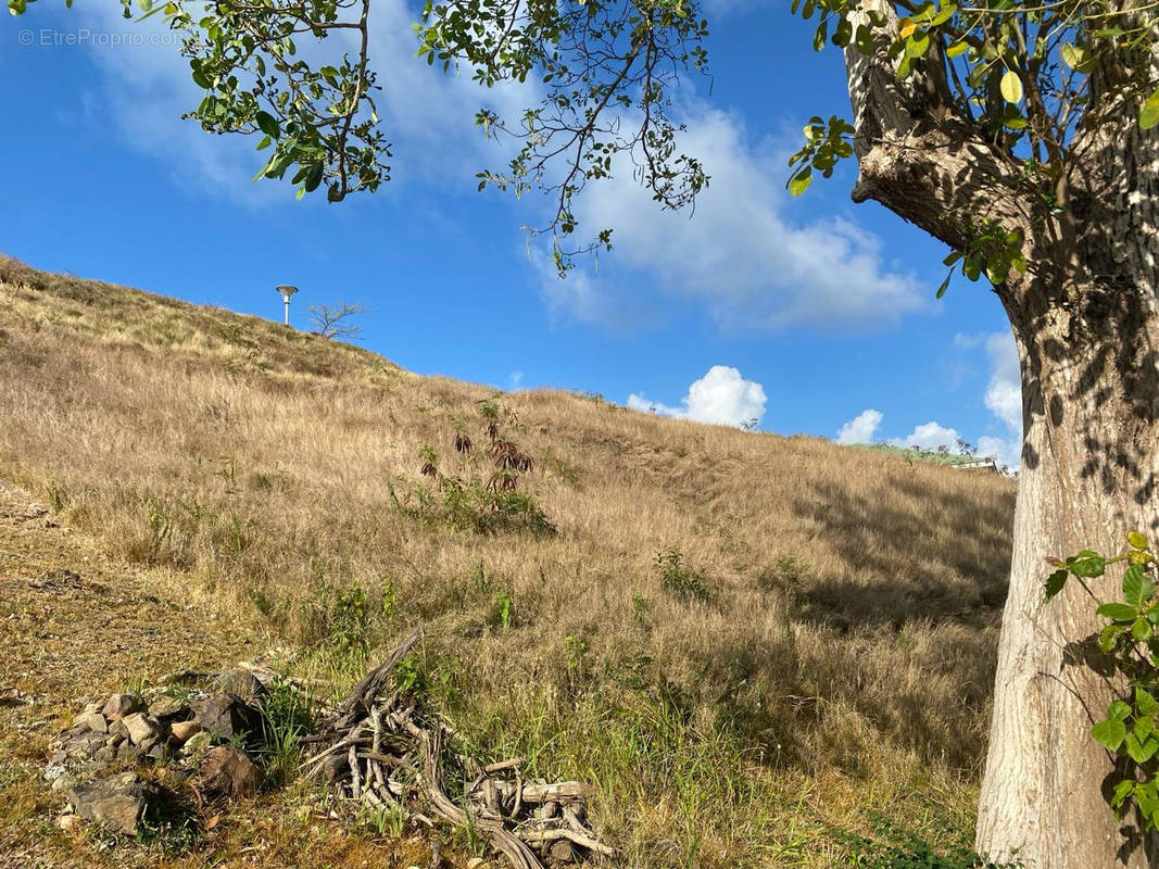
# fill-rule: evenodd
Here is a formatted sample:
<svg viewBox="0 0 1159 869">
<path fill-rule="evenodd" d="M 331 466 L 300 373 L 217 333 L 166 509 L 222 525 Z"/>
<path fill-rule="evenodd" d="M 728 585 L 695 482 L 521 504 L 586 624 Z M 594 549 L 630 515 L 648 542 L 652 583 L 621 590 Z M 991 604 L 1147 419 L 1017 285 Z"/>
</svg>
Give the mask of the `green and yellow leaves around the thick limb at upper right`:
<svg viewBox="0 0 1159 869">
<path fill-rule="evenodd" d="M 1159 124 L 1159 3 L 1153 0 L 793 0 L 817 22 L 814 48 L 885 52 L 898 88 L 931 123 L 953 124 L 1015 171 L 1033 218 L 1066 219 L 1081 161 L 1122 140 L 1127 124 Z M 793 155 L 789 192 L 829 177 L 854 153 L 853 126 L 814 117 Z M 1102 137 L 1102 141 L 1100 141 Z M 1001 284 L 1027 269 L 1022 233 L 983 221 L 946 257 L 969 279 Z M 942 295 L 950 276 L 938 290 Z"/>
</svg>

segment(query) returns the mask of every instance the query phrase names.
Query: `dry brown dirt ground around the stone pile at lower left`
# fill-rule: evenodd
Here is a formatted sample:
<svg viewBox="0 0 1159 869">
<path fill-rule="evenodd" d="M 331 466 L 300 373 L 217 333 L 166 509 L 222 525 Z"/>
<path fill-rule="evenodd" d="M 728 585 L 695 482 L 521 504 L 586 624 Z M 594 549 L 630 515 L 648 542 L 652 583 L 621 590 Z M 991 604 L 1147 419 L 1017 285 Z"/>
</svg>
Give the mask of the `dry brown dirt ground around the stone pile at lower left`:
<svg viewBox="0 0 1159 869">
<path fill-rule="evenodd" d="M 234 806 L 185 854 L 115 844 L 54 823 L 64 795 L 42 777 L 49 743 L 80 707 L 191 667 L 220 670 L 263 649 L 212 606 L 181 600 L 180 577 L 118 563 L 0 482 L 0 868 L 406 867 L 424 845 L 347 835 L 301 794 Z M 190 596 L 194 599 L 194 596 Z M 425 846 L 429 847 L 429 846 Z M 427 850 L 429 854 L 429 850 Z"/>
</svg>

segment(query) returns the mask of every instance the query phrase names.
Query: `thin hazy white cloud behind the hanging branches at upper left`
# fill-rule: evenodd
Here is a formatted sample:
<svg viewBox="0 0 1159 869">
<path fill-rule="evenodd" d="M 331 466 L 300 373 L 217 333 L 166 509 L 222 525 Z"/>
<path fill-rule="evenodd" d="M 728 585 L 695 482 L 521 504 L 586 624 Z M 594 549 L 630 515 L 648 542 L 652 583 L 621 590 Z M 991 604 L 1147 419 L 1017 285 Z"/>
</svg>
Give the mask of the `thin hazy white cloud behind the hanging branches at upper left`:
<svg viewBox="0 0 1159 869">
<path fill-rule="evenodd" d="M 117 3 L 35 13 L 60 31 L 85 28 L 93 34 L 144 35 L 145 44 L 85 43 L 100 70 L 94 82 L 86 82 L 96 96 L 86 98 L 99 107 L 102 123 L 111 121 L 129 147 L 167 165 L 180 185 L 246 205 L 293 202 L 287 182 L 250 183 L 265 160 L 265 154 L 254 149 L 255 138 L 211 136 L 197 123 L 181 119 L 203 94 L 180 56 L 180 38 L 174 42 L 180 35 L 167 30 L 161 16 L 126 21 Z M 382 0 L 371 12 L 371 64 L 382 88 L 374 97 L 393 152 L 387 161 L 392 182 L 384 190 L 389 192 L 414 176 L 474 190 L 476 171 L 505 162 L 503 152 L 475 127 L 475 112 L 486 105 L 501 115 L 517 116 L 538 100 L 538 89 L 510 82 L 482 88 L 469 75 L 429 68 L 416 57 L 417 41 L 410 27 L 416 15 L 406 0 Z M 342 31 L 325 43 L 302 39 L 299 54 L 307 59 L 341 57 L 343 51 L 356 51 L 353 38 L 352 31 Z"/>
</svg>

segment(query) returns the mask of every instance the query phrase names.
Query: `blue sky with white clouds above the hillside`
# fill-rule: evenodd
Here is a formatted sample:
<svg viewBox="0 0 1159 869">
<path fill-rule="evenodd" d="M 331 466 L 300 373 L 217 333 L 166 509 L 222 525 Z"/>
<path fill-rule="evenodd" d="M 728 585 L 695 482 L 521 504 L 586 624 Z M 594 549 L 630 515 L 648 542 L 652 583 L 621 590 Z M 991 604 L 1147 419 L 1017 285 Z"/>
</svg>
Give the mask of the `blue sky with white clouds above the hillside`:
<svg viewBox="0 0 1159 869">
<path fill-rule="evenodd" d="M 945 248 L 853 205 L 851 168 L 800 199 L 783 190 L 803 122 L 848 110 L 840 54 L 815 53 L 781 3 L 708 14 L 712 80 L 679 97 L 713 176 L 695 214 L 659 213 L 630 177 L 590 188 L 578 216 L 613 226 L 617 248 L 560 282 L 520 231 L 546 202 L 475 191 L 504 161 L 475 110 L 527 94 L 418 61 L 404 0 L 372 10 L 393 180 L 340 205 L 252 183 L 252 141 L 181 121 L 197 97 L 175 46 L 114 44 L 167 34 L 115 0 L 42 0 L 0 32 L 0 110 L 16 119 L 0 250 L 271 319 L 274 286 L 297 284 L 296 324 L 313 302 L 370 306 L 363 343 L 421 373 L 786 434 L 935 446 L 953 429 L 1013 460 L 1016 363 L 989 286 L 958 279 L 935 301 Z"/>
</svg>

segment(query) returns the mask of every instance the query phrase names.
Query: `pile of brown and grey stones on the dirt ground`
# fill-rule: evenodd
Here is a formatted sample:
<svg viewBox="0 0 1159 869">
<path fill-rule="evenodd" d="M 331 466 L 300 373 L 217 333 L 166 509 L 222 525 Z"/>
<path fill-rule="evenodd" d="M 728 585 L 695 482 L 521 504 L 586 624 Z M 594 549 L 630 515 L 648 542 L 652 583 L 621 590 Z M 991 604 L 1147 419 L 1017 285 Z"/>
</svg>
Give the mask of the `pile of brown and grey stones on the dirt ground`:
<svg viewBox="0 0 1159 869">
<path fill-rule="evenodd" d="M 261 784 L 249 754 L 262 729 L 262 682 L 247 670 L 194 674 L 140 694 L 89 703 L 53 742 L 44 777 L 67 793 L 61 827 L 81 819 L 116 833 L 139 831 L 150 810 L 192 796 L 199 804 L 243 797 Z M 150 767 L 165 764 L 166 788 Z"/>
</svg>

